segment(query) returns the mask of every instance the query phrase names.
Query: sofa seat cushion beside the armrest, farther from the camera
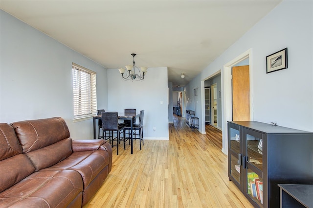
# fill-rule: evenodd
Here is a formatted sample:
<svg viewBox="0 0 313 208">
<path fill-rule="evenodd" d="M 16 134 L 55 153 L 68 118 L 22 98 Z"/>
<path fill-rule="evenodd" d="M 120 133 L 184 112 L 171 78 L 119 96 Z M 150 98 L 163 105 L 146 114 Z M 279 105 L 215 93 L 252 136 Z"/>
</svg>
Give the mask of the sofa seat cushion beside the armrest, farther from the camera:
<svg viewBox="0 0 313 208">
<path fill-rule="evenodd" d="M 55 164 L 45 170 L 76 170 L 81 174 L 84 189 L 89 183 L 109 164 L 109 154 L 107 151 L 78 151 L 73 152 L 65 160 Z"/>
</svg>

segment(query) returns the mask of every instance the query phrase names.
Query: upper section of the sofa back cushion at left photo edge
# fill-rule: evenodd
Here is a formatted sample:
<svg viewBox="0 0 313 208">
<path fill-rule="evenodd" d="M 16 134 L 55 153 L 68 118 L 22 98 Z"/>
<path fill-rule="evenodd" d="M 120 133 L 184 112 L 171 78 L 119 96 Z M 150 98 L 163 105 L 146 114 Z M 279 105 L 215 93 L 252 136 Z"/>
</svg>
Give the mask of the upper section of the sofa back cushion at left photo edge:
<svg viewBox="0 0 313 208">
<path fill-rule="evenodd" d="M 22 153 L 14 129 L 7 123 L 0 123 L 0 161 Z"/>
</svg>

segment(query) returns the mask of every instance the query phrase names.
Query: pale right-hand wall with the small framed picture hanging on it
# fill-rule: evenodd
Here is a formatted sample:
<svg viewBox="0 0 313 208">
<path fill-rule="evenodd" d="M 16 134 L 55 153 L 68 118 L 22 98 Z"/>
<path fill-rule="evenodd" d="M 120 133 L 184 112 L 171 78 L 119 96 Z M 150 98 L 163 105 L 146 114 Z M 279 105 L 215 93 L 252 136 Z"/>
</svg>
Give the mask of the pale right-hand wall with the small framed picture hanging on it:
<svg viewBox="0 0 313 208">
<path fill-rule="evenodd" d="M 313 132 L 312 37 L 313 1 L 284 0 L 207 66 L 202 71 L 201 78 L 197 76 L 186 89 L 201 87 L 201 81 L 222 69 L 222 102 L 224 102 L 224 65 L 250 50 L 253 119 Z M 266 74 L 266 56 L 286 47 L 288 47 L 288 69 Z M 224 114 L 225 112 L 222 116 Z M 225 153 L 226 122 L 224 119 Z"/>
</svg>

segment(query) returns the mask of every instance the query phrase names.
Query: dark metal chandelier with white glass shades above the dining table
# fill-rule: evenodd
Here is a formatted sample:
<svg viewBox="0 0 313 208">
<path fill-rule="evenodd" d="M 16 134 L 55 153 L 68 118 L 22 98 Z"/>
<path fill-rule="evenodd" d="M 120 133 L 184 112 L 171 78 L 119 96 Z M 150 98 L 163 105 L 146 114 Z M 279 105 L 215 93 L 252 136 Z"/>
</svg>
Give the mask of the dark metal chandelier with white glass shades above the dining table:
<svg viewBox="0 0 313 208">
<path fill-rule="evenodd" d="M 124 68 L 120 68 L 118 69 L 118 71 L 122 74 L 122 78 L 124 80 L 136 80 L 136 81 L 142 81 L 145 78 L 145 74 L 147 73 L 147 67 L 140 67 L 141 71 L 138 69 L 138 67 L 135 66 L 135 56 L 136 54 L 131 54 L 133 56 L 133 65 L 127 65 L 125 66 L 128 73 L 125 73 L 125 69 Z M 136 74 L 135 71 L 138 71 L 138 74 Z M 141 75 L 142 72 L 142 75 Z M 124 73 L 126 75 L 124 75 Z"/>
</svg>

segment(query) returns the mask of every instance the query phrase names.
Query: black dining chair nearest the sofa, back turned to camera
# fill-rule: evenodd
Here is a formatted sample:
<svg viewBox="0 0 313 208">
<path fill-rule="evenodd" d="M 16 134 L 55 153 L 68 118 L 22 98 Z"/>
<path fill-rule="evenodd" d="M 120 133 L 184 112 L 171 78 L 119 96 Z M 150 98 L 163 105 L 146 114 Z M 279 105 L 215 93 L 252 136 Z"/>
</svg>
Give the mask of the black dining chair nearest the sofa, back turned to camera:
<svg viewBox="0 0 313 208">
<path fill-rule="evenodd" d="M 118 155 L 118 145 L 121 141 L 121 134 L 124 134 L 124 126 L 118 124 L 118 114 L 117 112 L 102 112 L 102 130 L 103 133 L 105 131 L 109 131 L 109 140 L 112 147 L 116 147 L 116 154 Z M 114 136 L 114 132 L 116 132 L 116 136 Z M 125 136 L 124 138 L 124 150 L 125 150 Z M 111 143 L 112 142 L 112 143 Z M 116 142 L 116 145 L 114 145 Z"/>
</svg>

